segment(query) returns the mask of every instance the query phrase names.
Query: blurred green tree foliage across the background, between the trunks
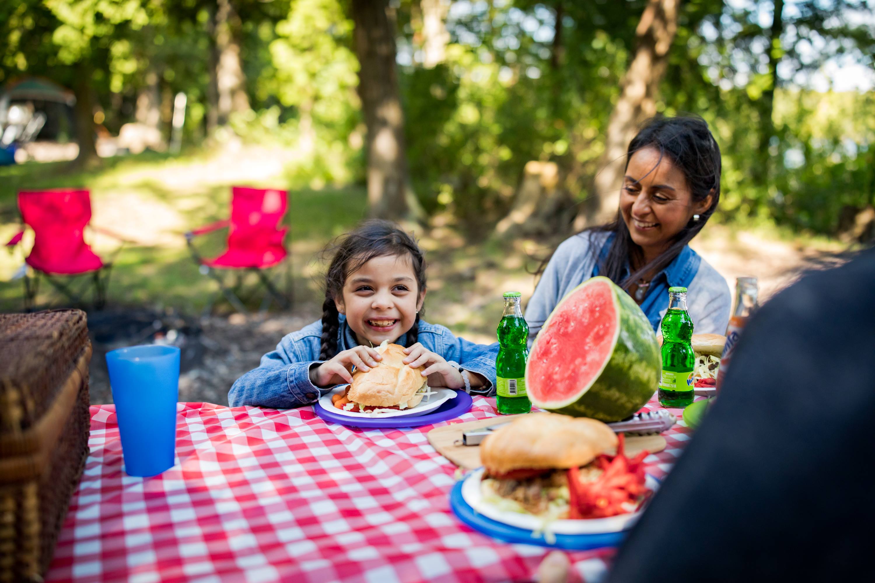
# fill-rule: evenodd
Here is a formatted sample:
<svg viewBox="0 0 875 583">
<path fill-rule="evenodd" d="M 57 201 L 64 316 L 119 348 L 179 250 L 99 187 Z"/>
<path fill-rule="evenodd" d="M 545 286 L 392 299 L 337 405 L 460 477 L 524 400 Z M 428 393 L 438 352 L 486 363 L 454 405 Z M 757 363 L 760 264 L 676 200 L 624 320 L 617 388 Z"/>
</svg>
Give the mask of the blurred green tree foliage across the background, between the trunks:
<svg viewBox="0 0 875 583">
<path fill-rule="evenodd" d="M 365 128 L 346 0 L 230 1 L 252 107 L 232 118 L 234 131 L 294 148 L 286 178 L 295 187 L 362 184 Z M 427 69 L 420 3 L 392 3 L 410 180 L 423 207 L 490 224 L 513 204 L 530 160 L 558 164 L 568 206 L 590 196 L 645 5 L 455 2 L 444 62 Z M 836 233 L 848 208 L 875 204 L 872 91 L 796 86 L 837 56 L 872 68 L 871 3 L 787 3 L 774 44 L 772 6 L 681 3 L 656 108 L 702 115 L 717 135 L 719 220 Z M 214 10 L 207 0 L 0 3 L 0 83 L 36 74 L 73 87 L 84 63 L 104 125 L 116 132 L 158 75 L 165 135 L 172 95 L 183 92 L 186 141 L 200 143 Z M 781 59 L 777 87 L 770 55 Z"/>
</svg>

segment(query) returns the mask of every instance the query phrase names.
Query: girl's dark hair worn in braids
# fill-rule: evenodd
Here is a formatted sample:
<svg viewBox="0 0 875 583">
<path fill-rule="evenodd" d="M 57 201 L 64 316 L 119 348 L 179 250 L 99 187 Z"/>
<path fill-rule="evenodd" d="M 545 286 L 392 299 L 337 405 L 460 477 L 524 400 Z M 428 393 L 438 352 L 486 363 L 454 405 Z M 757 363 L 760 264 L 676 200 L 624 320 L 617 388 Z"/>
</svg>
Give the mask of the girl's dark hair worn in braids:
<svg viewBox="0 0 875 583">
<path fill-rule="evenodd" d="M 319 360 L 328 360 L 337 354 L 339 315 L 334 298 L 343 294 L 346 278 L 374 257 L 409 255 L 410 265 L 416 274 L 416 297 L 425 289 L 425 258 L 408 233 L 404 233 L 388 220 L 367 220 L 339 242 L 325 251 L 333 253 L 328 273 L 325 274 L 325 302 L 322 303 L 322 343 Z M 407 331 L 407 345 L 416 344 L 419 331 L 419 314 L 413 327 Z"/>
</svg>

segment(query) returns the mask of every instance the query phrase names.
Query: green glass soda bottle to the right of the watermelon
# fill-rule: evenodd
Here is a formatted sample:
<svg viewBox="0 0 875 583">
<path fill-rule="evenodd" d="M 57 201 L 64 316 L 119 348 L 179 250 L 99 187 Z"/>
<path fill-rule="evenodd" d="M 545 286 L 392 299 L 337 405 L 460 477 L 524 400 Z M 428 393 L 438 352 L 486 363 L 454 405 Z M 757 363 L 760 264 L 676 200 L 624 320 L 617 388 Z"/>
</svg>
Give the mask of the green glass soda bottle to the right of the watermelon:
<svg viewBox="0 0 875 583">
<path fill-rule="evenodd" d="M 662 318 L 662 378 L 659 402 L 664 407 L 685 407 L 693 402 L 696 354 L 690 340 L 693 319 L 687 313 L 687 288 L 669 288 L 669 309 Z"/>
</svg>

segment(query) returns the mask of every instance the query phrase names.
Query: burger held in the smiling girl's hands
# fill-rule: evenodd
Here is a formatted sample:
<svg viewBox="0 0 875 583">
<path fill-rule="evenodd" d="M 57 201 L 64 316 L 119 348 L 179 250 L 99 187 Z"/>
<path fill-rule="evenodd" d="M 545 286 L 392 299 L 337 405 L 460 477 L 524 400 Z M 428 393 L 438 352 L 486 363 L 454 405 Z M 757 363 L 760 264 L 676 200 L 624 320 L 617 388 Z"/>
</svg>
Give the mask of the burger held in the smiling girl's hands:
<svg viewBox="0 0 875 583">
<path fill-rule="evenodd" d="M 401 344 L 383 343 L 376 349 L 382 360 L 369 371 L 354 371 L 346 393 L 334 395 L 334 406 L 354 413 L 380 413 L 381 410 L 412 409 L 431 394 L 423 366 L 404 364 Z"/>
</svg>

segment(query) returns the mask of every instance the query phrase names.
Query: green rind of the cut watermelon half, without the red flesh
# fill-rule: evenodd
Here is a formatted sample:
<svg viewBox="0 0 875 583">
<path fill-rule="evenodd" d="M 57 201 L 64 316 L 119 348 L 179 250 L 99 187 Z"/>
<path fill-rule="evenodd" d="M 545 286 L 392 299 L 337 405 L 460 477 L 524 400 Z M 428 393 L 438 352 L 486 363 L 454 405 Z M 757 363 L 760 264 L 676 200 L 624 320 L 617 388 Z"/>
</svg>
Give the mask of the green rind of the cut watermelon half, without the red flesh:
<svg viewBox="0 0 875 583">
<path fill-rule="evenodd" d="M 535 354 L 538 339 L 542 337 L 544 330 L 549 330 L 550 321 L 559 313 L 563 304 L 572 300 L 581 288 L 599 281 L 606 282 L 610 286 L 618 317 L 611 356 L 602 363 L 598 374 L 593 375 L 589 383 L 579 387 L 570 398 L 539 399 L 540 381 L 532 377 L 528 364 L 526 386 L 528 397 L 534 406 L 555 413 L 610 422 L 626 419 L 629 415 L 637 413 L 648 402 L 655 392 L 662 367 L 659 344 L 656 342 L 654 330 L 647 316 L 625 291 L 602 276 L 584 281 L 565 295 L 562 302 L 559 302 L 550 313 L 541 333 L 535 338 L 530 354 Z"/>
</svg>

